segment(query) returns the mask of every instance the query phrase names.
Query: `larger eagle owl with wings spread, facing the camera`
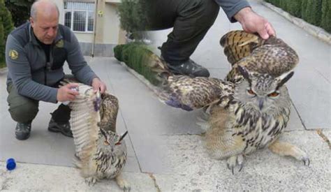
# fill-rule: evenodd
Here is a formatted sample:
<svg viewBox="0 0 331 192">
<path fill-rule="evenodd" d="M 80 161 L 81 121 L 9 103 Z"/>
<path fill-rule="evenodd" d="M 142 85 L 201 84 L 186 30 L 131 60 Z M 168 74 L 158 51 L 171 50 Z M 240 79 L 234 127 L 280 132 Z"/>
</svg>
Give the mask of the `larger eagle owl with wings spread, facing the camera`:
<svg viewBox="0 0 331 192">
<path fill-rule="evenodd" d="M 290 117 L 285 83 L 298 63 L 295 51 L 274 36 L 230 31 L 220 41 L 232 65 L 226 80 L 172 75 L 163 84 L 161 101 L 175 108 L 205 108 L 205 146 L 209 154 L 227 159 L 230 170 L 242 169 L 244 156 L 263 147 L 293 156 L 309 165 L 305 152 L 277 140 Z"/>
</svg>

